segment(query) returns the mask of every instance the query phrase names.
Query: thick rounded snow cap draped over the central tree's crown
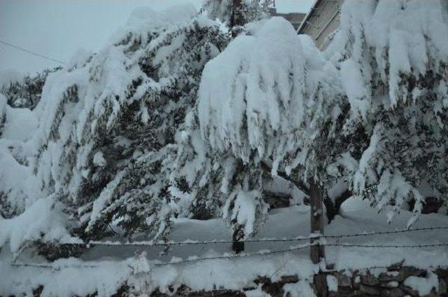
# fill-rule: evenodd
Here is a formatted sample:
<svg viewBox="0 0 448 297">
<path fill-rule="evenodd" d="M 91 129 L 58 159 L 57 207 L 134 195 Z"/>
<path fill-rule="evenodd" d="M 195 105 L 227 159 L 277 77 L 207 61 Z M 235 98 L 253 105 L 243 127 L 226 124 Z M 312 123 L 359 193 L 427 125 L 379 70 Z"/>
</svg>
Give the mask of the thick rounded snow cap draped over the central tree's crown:
<svg viewBox="0 0 448 297">
<path fill-rule="evenodd" d="M 339 86 L 336 69 L 285 19 L 262 22 L 253 34 L 238 36 L 206 64 L 198 95 L 202 137 L 245 162 L 254 149 L 260 159 L 283 157 L 297 145 L 317 88 Z"/>
</svg>

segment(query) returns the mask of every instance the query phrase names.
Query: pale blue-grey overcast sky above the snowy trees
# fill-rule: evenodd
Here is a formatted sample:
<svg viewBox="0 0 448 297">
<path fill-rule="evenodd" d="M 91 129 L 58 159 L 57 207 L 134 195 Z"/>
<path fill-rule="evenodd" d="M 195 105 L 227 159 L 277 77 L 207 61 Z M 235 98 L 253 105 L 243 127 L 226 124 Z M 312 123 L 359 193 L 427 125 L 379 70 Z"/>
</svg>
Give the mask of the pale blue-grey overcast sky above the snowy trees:
<svg viewBox="0 0 448 297">
<path fill-rule="evenodd" d="M 0 0 L 0 40 L 69 62 L 78 48 L 97 51 L 134 8 L 155 11 L 202 0 Z M 276 0 L 277 11 L 305 13 L 313 0 Z M 59 64 L 0 43 L 0 71 L 33 73 Z"/>
</svg>

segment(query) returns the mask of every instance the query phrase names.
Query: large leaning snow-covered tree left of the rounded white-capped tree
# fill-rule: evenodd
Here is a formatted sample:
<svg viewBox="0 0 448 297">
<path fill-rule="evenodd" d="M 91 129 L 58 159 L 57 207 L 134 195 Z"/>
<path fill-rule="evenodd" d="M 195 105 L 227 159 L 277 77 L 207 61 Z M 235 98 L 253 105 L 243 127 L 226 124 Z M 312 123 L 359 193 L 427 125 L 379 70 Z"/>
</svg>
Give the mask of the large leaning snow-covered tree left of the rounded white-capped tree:
<svg viewBox="0 0 448 297">
<path fill-rule="evenodd" d="M 228 36 L 190 5 L 139 8 L 113 44 L 48 76 L 29 166 L 69 233 L 100 238 L 111 224 L 128 238 L 167 233 L 176 135 Z"/>
</svg>

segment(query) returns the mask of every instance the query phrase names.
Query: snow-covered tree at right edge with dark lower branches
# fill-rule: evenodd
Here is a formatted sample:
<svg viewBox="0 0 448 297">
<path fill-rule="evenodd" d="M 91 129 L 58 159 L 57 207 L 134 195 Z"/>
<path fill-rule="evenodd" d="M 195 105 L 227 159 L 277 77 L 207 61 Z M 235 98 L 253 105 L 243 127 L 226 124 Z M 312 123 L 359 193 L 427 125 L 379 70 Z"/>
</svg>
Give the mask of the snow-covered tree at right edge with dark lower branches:
<svg viewBox="0 0 448 297">
<path fill-rule="evenodd" d="M 393 205 L 390 219 L 447 201 L 447 15 L 444 1 L 346 1 L 325 52 L 351 109 L 341 172 L 378 209 Z"/>
</svg>

